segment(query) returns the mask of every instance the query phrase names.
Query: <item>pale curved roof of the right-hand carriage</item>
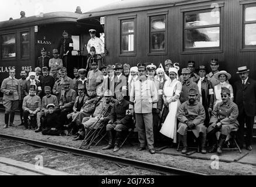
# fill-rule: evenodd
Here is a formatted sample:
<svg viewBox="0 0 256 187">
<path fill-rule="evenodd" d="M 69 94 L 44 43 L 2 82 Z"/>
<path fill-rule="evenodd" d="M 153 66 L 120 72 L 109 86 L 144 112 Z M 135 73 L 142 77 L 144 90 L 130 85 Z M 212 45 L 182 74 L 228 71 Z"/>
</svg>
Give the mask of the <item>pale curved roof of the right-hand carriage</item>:
<svg viewBox="0 0 256 187">
<path fill-rule="evenodd" d="M 144 11 L 148 9 L 164 8 L 167 6 L 193 4 L 195 2 L 207 2 L 212 0 L 124 0 L 114 2 L 112 4 L 104 5 L 93 9 L 83 15 L 80 15 L 78 22 L 84 19 L 95 18 L 105 15 L 114 15 L 118 13 Z"/>
</svg>

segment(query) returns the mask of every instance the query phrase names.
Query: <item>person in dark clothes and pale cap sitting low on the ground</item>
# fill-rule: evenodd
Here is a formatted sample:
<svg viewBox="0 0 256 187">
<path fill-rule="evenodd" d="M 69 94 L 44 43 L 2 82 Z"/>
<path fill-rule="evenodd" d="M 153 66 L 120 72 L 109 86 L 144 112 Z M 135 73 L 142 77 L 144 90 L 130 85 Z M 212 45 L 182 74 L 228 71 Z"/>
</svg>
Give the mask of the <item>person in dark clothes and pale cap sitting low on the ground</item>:
<svg viewBox="0 0 256 187">
<path fill-rule="evenodd" d="M 62 134 L 62 127 L 60 126 L 59 116 L 54 112 L 56 106 L 49 104 L 46 106 L 48 113 L 43 119 L 43 135 L 60 136 Z"/>
</svg>

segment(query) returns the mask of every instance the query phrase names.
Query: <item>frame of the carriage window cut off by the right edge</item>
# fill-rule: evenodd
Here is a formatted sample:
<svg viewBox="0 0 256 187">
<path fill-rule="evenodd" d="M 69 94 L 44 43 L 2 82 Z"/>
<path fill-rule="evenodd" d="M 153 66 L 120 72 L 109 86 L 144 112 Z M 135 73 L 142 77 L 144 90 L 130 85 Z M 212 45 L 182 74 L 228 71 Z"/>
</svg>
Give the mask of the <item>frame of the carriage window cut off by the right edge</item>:
<svg viewBox="0 0 256 187">
<path fill-rule="evenodd" d="M 256 1 L 250 1 L 250 2 L 247 2 L 247 1 L 243 1 L 243 2 L 240 2 L 241 4 L 241 22 L 242 22 L 242 30 L 241 30 L 241 49 L 240 51 L 255 51 L 256 50 L 256 44 L 255 45 L 246 45 L 245 44 L 245 26 L 246 25 L 250 25 L 250 24 L 256 24 L 256 20 L 252 20 L 252 21 L 246 21 L 245 20 L 245 9 L 246 8 L 250 8 L 250 7 L 256 7 Z"/>
</svg>

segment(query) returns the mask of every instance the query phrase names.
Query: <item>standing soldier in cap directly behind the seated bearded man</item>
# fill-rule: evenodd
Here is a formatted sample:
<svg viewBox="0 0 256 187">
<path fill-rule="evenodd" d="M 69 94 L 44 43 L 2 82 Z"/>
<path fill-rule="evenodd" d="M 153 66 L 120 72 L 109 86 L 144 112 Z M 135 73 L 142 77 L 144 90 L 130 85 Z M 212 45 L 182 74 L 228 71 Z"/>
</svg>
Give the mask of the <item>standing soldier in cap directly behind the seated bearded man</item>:
<svg viewBox="0 0 256 187">
<path fill-rule="evenodd" d="M 180 81 L 182 82 L 182 93 L 180 93 L 180 103 L 187 101 L 187 91 L 189 91 L 190 88 L 196 88 L 198 91 L 197 84 L 190 79 L 190 72 L 191 71 L 189 70 L 189 68 L 182 69 L 183 81 Z"/>
</svg>

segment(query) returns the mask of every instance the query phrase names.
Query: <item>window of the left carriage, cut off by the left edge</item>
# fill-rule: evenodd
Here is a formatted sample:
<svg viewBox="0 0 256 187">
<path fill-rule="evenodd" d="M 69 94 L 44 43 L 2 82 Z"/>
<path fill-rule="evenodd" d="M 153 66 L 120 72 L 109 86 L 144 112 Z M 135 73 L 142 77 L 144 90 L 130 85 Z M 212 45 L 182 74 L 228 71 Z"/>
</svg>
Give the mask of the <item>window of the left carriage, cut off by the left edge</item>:
<svg viewBox="0 0 256 187">
<path fill-rule="evenodd" d="M 16 57 L 15 33 L 1 35 L 1 54 L 2 59 Z"/>
</svg>

